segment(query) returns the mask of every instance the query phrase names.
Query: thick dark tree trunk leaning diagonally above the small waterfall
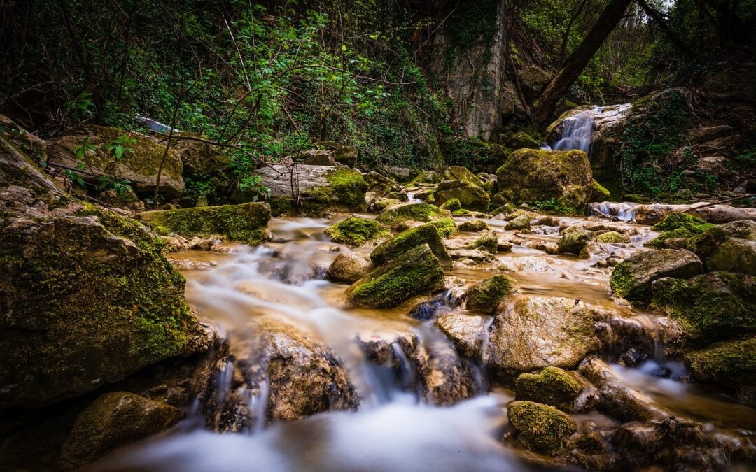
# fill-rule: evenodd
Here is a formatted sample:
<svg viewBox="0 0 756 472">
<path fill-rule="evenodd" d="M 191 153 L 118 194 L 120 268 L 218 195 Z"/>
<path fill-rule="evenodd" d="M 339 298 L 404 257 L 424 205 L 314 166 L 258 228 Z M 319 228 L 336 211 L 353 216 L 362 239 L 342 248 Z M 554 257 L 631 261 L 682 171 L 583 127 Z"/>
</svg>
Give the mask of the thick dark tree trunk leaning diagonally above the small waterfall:
<svg viewBox="0 0 756 472">
<path fill-rule="evenodd" d="M 580 73 L 590 62 L 590 58 L 593 57 L 593 54 L 596 54 L 606 37 L 620 22 L 630 2 L 631 0 L 611 0 L 609 5 L 606 5 L 603 13 L 596 20 L 596 23 L 593 23 L 578 48 L 575 48 L 575 51 L 572 51 L 572 54 L 565 60 L 562 70 L 549 82 L 538 100 L 535 100 L 533 118 L 536 122 L 545 122 L 554 113 L 556 102 L 564 96 L 572 82 L 578 79 Z"/>
</svg>

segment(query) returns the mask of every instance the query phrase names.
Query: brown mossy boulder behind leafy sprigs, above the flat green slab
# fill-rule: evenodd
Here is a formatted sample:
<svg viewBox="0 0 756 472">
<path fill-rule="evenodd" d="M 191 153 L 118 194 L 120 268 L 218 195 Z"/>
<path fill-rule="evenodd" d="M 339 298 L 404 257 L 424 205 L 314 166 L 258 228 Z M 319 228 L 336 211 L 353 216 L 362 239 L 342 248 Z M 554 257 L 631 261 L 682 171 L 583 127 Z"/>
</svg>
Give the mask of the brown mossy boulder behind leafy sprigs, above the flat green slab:
<svg viewBox="0 0 756 472">
<path fill-rule="evenodd" d="M 129 140 L 125 147 L 133 151 L 123 153 L 123 156 L 116 160 L 109 146 L 124 136 Z M 77 159 L 76 150 L 83 142 L 91 145 L 91 150 L 85 158 Z M 184 166 L 181 157 L 175 150 L 168 150 L 166 154 L 163 144 L 155 143 L 143 134 L 89 125 L 82 134 L 58 137 L 48 143 L 48 165 L 62 164 L 76 168 L 81 163 L 85 165 L 88 173 L 95 174 L 82 174 L 84 180 L 96 181 L 100 176 L 129 180 L 136 193 L 147 196 L 152 195 L 155 190 L 157 171 L 164 155 L 166 161 L 160 176 L 160 188 L 169 198 L 180 196 L 184 191 Z"/>
</svg>

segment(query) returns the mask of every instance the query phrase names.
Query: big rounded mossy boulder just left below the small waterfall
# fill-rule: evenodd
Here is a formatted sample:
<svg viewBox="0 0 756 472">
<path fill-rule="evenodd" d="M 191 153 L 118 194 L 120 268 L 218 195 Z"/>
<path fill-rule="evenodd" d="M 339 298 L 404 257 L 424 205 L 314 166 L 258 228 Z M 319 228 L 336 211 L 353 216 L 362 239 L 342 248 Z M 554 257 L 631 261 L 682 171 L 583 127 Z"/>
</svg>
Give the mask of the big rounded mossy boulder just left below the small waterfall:
<svg viewBox="0 0 756 472">
<path fill-rule="evenodd" d="M 516 203 L 552 202 L 569 214 L 584 214 L 593 174 L 583 151 L 516 150 L 496 171 L 499 192 Z"/>
</svg>

